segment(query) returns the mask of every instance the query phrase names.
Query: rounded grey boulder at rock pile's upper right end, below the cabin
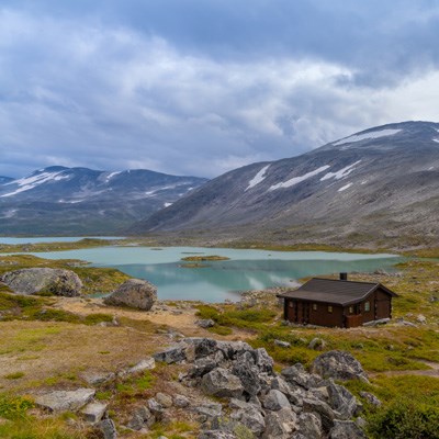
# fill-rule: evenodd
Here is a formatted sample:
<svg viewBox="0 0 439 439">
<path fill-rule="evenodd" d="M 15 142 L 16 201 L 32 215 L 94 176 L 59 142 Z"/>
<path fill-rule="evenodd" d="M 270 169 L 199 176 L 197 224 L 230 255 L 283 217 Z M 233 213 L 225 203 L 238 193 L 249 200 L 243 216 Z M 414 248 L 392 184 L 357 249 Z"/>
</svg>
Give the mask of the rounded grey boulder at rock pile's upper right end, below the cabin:
<svg viewBox="0 0 439 439">
<path fill-rule="evenodd" d="M 349 352 L 331 350 L 318 356 L 311 370 L 323 378 L 335 380 L 362 380 L 369 383 L 368 376 L 359 363 Z"/>
</svg>

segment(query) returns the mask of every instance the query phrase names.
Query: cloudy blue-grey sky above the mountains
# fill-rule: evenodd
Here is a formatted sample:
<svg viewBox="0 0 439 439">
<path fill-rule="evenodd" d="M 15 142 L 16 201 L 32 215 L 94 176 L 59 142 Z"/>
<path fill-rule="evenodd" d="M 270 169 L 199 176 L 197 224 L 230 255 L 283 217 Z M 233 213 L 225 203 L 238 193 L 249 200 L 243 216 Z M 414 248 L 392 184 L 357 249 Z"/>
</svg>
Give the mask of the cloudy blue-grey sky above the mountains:
<svg viewBox="0 0 439 439">
<path fill-rule="evenodd" d="M 1 0 L 0 176 L 214 177 L 439 121 L 436 0 Z"/>
</svg>

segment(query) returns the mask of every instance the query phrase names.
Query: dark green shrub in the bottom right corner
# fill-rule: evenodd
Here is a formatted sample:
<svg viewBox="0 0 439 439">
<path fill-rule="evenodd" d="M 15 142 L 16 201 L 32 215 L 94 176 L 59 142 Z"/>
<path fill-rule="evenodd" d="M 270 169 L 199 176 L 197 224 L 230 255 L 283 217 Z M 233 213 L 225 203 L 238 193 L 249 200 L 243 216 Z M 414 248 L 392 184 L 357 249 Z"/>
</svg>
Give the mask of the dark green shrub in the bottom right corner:
<svg viewBox="0 0 439 439">
<path fill-rule="evenodd" d="M 394 401 L 371 416 L 369 432 L 376 439 L 439 439 L 439 407 Z"/>
</svg>

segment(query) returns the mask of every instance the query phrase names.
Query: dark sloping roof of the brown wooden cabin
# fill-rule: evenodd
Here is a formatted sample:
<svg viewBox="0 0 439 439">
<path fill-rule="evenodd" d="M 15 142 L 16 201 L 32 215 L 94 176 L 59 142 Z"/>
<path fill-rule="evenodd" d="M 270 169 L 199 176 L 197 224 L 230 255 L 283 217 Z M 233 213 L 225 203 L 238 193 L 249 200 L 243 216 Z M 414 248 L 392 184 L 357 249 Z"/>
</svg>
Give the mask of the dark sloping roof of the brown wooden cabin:
<svg viewBox="0 0 439 439">
<path fill-rule="evenodd" d="M 391 296 L 397 295 L 376 282 L 352 282 L 340 281 L 338 279 L 313 278 L 297 290 L 279 294 L 279 297 L 302 299 L 305 301 L 325 302 L 337 305 L 351 305 L 352 303 L 363 301 L 379 288 Z"/>
</svg>

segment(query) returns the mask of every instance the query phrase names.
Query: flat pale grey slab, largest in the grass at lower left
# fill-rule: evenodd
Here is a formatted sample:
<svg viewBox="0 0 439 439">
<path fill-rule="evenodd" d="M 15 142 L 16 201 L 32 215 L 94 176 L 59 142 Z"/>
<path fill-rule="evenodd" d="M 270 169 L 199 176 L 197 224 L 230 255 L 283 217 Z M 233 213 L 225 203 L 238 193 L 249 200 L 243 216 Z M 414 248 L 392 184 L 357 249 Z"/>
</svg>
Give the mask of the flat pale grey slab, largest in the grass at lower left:
<svg viewBox="0 0 439 439">
<path fill-rule="evenodd" d="M 94 389 L 54 391 L 36 396 L 35 404 L 50 412 L 75 412 L 88 404 L 94 394 Z"/>
</svg>

